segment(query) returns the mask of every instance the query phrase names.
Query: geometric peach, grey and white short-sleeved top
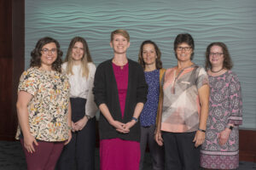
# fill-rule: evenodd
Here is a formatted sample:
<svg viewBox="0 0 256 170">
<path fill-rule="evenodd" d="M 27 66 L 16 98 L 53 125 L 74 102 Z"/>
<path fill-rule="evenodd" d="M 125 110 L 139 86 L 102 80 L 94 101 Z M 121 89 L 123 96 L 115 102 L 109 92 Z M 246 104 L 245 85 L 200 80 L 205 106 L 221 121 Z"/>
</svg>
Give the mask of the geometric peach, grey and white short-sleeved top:
<svg viewBox="0 0 256 170">
<path fill-rule="evenodd" d="M 166 71 L 161 130 L 172 133 L 194 132 L 199 127 L 198 89 L 208 84 L 207 72 L 192 65 L 176 77 L 177 67 Z"/>
</svg>

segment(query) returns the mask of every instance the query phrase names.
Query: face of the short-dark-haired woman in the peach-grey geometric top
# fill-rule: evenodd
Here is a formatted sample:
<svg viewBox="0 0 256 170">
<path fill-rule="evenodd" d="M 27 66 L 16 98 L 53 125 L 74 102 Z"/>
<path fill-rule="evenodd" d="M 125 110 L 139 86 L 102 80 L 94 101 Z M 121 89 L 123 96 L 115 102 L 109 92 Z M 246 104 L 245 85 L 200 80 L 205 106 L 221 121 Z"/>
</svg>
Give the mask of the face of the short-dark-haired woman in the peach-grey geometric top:
<svg viewBox="0 0 256 170">
<path fill-rule="evenodd" d="M 193 53 L 193 49 L 189 46 L 188 43 L 183 42 L 177 45 L 177 48 L 175 50 L 177 60 L 179 61 L 190 61 L 191 60 L 191 54 Z"/>
</svg>

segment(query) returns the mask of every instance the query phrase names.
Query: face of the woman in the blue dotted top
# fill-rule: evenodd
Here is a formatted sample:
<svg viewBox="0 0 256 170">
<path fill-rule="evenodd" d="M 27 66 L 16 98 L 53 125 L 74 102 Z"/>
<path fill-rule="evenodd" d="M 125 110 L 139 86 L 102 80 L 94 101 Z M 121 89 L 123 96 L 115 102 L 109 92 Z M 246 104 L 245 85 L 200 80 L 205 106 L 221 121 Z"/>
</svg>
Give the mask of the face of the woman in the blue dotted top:
<svg viewBox="0 0 256 170">
<path fill-rule="evenodd" d="M 155 65 L 155 59 L 157 58 L 154 45 L 147 43 L 143 45 L 143 61 L 146 65 Z"/>
</svg>

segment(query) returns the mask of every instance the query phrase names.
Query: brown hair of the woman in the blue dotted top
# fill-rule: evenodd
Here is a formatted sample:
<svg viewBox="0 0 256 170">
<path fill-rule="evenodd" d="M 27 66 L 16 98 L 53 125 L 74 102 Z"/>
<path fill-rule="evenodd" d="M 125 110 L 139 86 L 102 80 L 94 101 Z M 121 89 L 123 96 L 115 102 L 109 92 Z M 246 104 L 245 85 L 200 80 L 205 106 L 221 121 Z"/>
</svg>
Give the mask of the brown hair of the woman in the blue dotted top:
<svg viewBox="0 0 256 170">
<path fill-rule="evenodd" d="M 141 44 L 141 48 L 138 54 L 138 62 L 140 65 L 143 66 L 143 69 L 145 69 L 145 62 L 143 60 L 143 47 L 146 44 L 152 44 L 154 46 L 154 51 L 155 54 L 157 56 L 157 58 L 155 59 L 155 67 L 156 69 L 161 69 L 162 68 L 162 61 L 161 61 L 161 52 L 160 52 L 160 48 L 158 48 L 158 46 L 156 45 L 156 43 L 154 43 L 151 40 L 146 40 Z"/>
</svg>

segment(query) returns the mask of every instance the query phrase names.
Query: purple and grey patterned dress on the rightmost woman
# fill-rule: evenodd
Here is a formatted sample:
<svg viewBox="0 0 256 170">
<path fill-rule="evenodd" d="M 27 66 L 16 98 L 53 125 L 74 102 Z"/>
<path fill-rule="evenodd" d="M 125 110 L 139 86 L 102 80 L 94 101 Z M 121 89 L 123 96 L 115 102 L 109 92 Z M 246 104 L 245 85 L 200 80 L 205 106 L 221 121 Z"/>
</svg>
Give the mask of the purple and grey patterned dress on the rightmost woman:
<svg viewBox="0 0 256 170">
<path fill-rule="evenodd" d="M 218 77 L 209 76 L 210 99 L 206 140 L 201 146 L 201 167 L 236 169 L 239 164 L 238 126 L 241 125 L 241 86 L 236 74 L 226 71 Z M 218 134 L 228 123 L 235 125 L 228 142 L 218 144 Z"/>
</svg>

